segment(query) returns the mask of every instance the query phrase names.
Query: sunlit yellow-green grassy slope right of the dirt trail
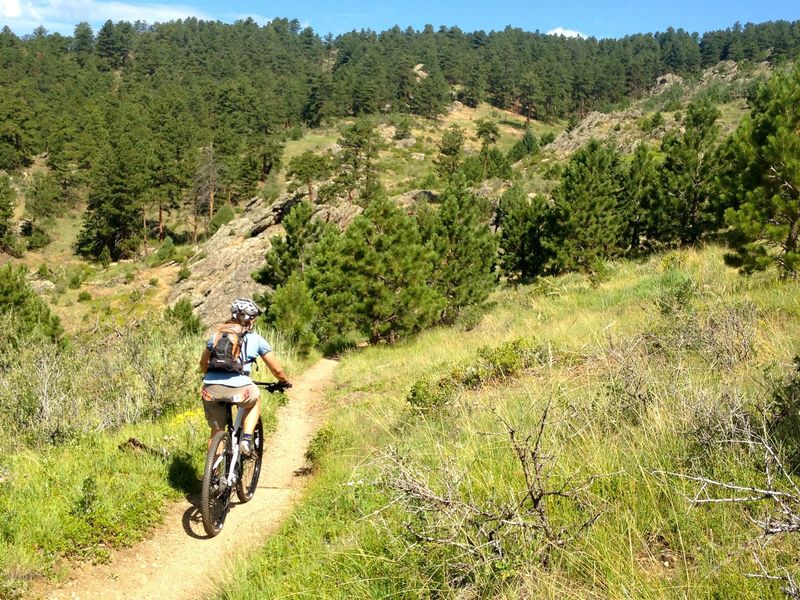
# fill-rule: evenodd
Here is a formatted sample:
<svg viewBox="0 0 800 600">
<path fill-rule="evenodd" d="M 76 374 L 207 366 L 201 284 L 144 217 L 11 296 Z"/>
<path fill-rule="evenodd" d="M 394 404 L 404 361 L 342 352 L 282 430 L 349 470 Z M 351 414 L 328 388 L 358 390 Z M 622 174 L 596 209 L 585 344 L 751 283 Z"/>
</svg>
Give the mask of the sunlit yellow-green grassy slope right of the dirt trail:
<svg viewBox="0 0 800 600">
<path fill-rule="evenodd" d="M 314 447 L 320 473 L 307 499 L 218 596 L 425 598 L 457 589 L 462 597 L 508 598 L 780 596 L 777 585 L 744 576 L 757 571 L 758 530 L 748 514 L 764 507 L 692 508 L 686 496 L 696 486 L 656 473 L 763 479 L 758 460 L 722 442 L 734 433 L 725 423 L 737 404 L 763 403 L 765 373 L 785 373 L 800 352 L 800 286 L 741 278 L 722 266 L 721 254 L 673 253 L 612 265 L 595 284 L 570 275 L 505 290 L 471 331 L 437 329 L 346 357 L 326 434 Z M 660 311 L 686 281 L 688 301 Z M 427 414 L 410 410 L 405 396 L 415 380 L 474 360 L 478 346 L 520 336 L 537 340 L 538 366 Z M 406 523 L 419 522 L 390 502 L 387 484 L 398 467 L 387 449 L 431 489 L 444 493 L 448 473 L 456 473 L 462 498 L 491 506 L 522 482 L 495 411 L 520 434 L 535 433 L 548 401 L 551 485 L 597 479 L 578 505 L 554 499 L 546 510 L 565 526 L 599 515 L 587 533 L 549 552 L 546 563 L 541 544 L 508 535 L 503 560 L 466 570 L 460 550 L 409 534 Z M 775 540 L 762 552 L 765 565 L 796 568 L 797 546 Z"/>
</svg>

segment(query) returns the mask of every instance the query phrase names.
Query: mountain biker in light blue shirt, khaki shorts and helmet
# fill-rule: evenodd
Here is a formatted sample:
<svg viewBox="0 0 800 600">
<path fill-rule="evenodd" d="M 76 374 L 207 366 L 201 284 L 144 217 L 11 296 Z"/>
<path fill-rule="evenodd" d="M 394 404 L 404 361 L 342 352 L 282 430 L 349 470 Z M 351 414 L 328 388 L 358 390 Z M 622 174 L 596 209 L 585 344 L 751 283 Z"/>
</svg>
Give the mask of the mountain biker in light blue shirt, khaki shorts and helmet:
<svg viewBox="0 0 800 600">
<path fill-rule="evenodd" d="M 283 383 L 291 387 L 286 373 L 283 371 L 280 362 L 272 352 L 272 346 L 267 340 L 253 331 L 253 324 L 261 310 L 250 298 L 237 298 L 231 304 L 231 318 L 222 325 L 216 327 L 206 342 L 206 347 L 200 357 L 200 370 L 205 373 L 203 377 L 203 408 L 206 420 L 211 427 L 211 438 L 218 431 L 225 428 L 226 411 L 220 401 L 233 402 L 239 408 L 244 409 L 245 415 L 242 422 L 242 441 L 240 449 L 245 456 L 253 453 L 253 431 L 258 424 L 258 417 L 261 414 L 261 400 L 259 399 L 259 389 L 250 379 L 250 371 L 253 363 L 258 357 L 270 370 L 270 372 Z M 222 370 L 209 367 L 212 358 L 214 344 L 217 342 L 218 333 L 225 326 L 239 326 L 241 335 L 241 372 L 233 370 Z"/>
</svg>

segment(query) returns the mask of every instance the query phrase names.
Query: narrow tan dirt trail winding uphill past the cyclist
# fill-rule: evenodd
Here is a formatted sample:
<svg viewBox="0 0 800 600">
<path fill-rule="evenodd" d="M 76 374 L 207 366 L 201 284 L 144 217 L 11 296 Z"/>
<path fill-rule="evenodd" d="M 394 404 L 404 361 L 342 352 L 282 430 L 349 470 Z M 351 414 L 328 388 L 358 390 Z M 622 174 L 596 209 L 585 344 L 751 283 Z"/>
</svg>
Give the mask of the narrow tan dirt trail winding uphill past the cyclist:
<svg viewBox="0 0 800 600">
<path fill-rule="evenodd" d="M 288 404 L 278 409 L 278 429 L 267 440 L 255 496 L 247 504 L 234 498 L 217 537 L 206 537 L 197 499 L 179 502 L 148 539 L 113 552 L 106 564 L 76 565 L 65 582 L 36 595 L 54 600 L 206 596 L 233 559 L 263 544 L 300 498 L 308 480 L 305 451 L 320 425 L 335 367 L 335 361 L 321 360 L 293 382 Z"/>
</svg>

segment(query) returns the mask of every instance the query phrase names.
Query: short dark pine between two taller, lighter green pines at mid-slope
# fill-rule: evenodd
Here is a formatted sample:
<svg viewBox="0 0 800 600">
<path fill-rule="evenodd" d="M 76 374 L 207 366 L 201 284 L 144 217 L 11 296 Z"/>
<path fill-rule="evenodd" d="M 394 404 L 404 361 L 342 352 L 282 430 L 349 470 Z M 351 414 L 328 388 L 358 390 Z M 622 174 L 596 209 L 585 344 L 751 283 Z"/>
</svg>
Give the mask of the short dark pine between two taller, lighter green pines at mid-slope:
<svg viewBox="0 0 800 600">
<path fill-rule="evenodd" d="M 513 186 L 500 199 L 500 265 L 512 281 L 548 273 L 555 259 L 553 209 L 539 195 L 529 198 Z"/>
</svg>

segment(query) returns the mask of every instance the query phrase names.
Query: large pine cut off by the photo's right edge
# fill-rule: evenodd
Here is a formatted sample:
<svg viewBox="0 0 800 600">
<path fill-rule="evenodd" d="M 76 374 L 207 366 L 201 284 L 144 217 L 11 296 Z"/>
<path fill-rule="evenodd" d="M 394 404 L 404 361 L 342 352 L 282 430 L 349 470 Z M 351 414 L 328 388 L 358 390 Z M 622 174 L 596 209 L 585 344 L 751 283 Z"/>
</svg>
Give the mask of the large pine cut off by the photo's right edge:
<svg viewBox="0 0 800 600">
<path fill-rule="evenodd" d="M 745 273 L 800 272 L 800 66 L 773 76 L 734 134 L 727 187 L 733 206 L 728 264 Z"/>
</svg>

